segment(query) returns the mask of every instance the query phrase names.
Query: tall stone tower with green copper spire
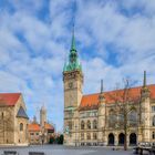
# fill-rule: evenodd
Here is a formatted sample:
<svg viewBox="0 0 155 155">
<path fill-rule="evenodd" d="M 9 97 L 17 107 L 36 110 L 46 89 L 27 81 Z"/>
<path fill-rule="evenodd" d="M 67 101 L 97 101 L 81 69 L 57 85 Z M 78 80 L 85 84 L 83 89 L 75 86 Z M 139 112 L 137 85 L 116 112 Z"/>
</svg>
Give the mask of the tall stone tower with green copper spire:
<svg viewBox="0 0 155 155">
<path fill-rule="evenodd" d="M 82 99 L 83 73 L 75 48 L 74 31 L 69 61 L 63 68 L 64 85 L 64 144 L 76 145 L 79 128 L 78 107 Z"/>
</svg>

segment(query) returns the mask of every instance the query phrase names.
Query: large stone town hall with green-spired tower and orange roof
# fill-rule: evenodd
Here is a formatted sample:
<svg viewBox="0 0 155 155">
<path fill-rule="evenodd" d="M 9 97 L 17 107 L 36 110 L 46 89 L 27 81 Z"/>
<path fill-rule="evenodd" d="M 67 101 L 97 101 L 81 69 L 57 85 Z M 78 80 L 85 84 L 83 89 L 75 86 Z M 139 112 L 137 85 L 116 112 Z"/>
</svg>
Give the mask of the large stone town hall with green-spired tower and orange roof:
<svg viewBox="0 0 155 155">
<path fill-rule="evenodd" d="M 86 74 L 86 73 L 85 73 Z M 64 85 L 64 145 L 124 145 L 125 133 L 121 125 L 123 111 L 117 105 L 127 104 L 127 145 L 155 142 L 155 84 L 131 87 L 127 102 L 113 100 L 123 90 L 83 94 L 84 74 L 72 37 L 69 61 L 63 68 Z"/>
</svg>

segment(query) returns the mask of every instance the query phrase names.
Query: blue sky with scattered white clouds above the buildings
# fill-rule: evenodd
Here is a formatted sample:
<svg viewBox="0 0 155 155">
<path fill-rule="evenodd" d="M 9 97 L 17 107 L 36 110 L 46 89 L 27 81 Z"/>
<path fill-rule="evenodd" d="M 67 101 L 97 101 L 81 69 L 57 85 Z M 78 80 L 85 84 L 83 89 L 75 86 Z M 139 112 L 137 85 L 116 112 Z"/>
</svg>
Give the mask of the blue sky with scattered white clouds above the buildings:
<svg viewBox="0 0 155 155">
<path fill-rule="evenodd" d="M 73 0 L 0 0 L 0 92 L 22 92 L 30 118 L 44 104 L 58 131 L 73 13 Z M 155 0 L 76 0 L 75 38 L 84 93 L 141 85 L 144 70 L 155 83 Z"/>
</svg>

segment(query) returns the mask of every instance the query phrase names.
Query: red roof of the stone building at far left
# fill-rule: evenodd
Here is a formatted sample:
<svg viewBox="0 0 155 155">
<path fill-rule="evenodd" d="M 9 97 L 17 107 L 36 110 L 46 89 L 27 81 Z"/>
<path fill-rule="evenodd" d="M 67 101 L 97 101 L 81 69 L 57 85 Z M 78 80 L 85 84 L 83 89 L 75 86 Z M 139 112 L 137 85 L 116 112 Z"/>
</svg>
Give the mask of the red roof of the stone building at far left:
<svg viewBox="0 0 155 155">
<path fill-rule="evenodd" d="M 0 104 L 13 106 L 18 102 L 21 93 L 0 93 Z"/>
</svg>

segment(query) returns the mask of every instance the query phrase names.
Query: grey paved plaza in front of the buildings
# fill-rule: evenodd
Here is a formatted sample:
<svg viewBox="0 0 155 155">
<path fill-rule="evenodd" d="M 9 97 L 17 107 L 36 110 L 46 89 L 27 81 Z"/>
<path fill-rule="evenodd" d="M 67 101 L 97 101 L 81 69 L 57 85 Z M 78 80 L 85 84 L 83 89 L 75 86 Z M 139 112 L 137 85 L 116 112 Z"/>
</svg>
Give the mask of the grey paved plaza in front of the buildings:
<svg viewBox="0 0 155 155">
<path fill-rule="evenodd" d="M 54 146 L 54 145 L 43 145 L 43 146 L 29 146 L 29 147 L 10 147 L 0 148 L 0 155 L 3 151 L 17 151 L 19 155 L 28 155 L 29 152 L 44 152 L 45 155 L 132 155 L 132 149 L 130 151 L 112 151 L 111 148 L 103 147 L 65 147 L 65 146 Z"/>
</svg>

